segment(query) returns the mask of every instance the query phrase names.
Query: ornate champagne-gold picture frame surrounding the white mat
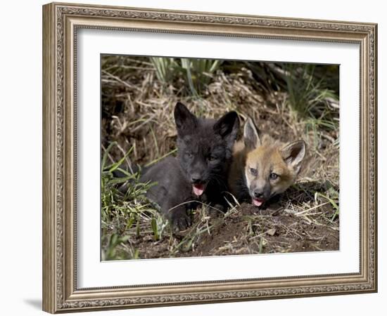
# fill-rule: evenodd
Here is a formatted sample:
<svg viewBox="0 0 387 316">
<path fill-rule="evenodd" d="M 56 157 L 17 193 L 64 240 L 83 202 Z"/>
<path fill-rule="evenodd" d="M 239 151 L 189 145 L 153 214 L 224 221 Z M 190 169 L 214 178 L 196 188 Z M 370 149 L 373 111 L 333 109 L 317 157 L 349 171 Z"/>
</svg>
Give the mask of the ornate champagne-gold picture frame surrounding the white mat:
<svg viewBox="0 0 387 316">
<path fill-rule="evenodd" d="M 260 37 L 360 44 L 360 272 L 78 289 L 75 235 L 77 29 Z M 43 309 L 72 312 L 375 292 L 376 36 L 372 23 L 120 8 L 43 6 Z"/>
</svg>

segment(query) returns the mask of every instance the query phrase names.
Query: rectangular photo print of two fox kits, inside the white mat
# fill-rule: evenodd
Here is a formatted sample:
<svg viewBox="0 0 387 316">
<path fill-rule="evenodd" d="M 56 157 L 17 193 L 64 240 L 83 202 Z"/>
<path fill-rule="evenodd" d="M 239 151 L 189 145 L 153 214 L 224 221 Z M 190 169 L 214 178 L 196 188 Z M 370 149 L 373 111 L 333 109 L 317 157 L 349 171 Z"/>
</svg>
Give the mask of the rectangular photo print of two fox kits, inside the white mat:
<svg viewBox="0 0 387 316">
<path fill-rule="evenodd" d="M 101 55 L 101 259 L 338 251 L 339 66 Z"/>
</svg>

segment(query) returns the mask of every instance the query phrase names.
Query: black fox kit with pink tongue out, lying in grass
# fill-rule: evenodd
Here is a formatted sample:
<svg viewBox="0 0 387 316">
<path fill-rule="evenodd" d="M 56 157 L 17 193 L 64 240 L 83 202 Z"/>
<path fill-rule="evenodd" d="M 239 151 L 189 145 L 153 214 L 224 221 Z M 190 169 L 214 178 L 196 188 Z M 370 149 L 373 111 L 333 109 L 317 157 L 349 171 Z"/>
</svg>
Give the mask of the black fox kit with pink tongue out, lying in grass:
<svg viewBox="0 0 387 316">
<path fill-rule="evenodd" d="M 147 196 L 160 205 L 172 226 L 184 229 L 191 225 L 187 209 L 196 200 L 212 206 L 224 206 L 227 173 L 232 147 L 239 129 L 236 112 L 218 120 L 202 119 L 189 112 L 185 105 L 175 106 L 177 157 L 167 157 L 143 169 L 141 182 L 156 182 Z"/>
</svg>

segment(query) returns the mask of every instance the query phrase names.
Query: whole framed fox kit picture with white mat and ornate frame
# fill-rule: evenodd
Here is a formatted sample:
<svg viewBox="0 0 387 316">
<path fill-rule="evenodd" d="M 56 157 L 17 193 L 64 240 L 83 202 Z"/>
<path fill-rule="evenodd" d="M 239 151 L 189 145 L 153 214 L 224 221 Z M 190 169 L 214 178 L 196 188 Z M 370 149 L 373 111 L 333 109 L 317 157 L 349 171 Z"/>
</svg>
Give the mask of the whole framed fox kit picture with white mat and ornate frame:
<svg viewBox="0 0 387 316">
<path fill-rule="evenodd" d="M 377 291 L 377 25 L 43 6 L 43 309 Z"/>
</svg>

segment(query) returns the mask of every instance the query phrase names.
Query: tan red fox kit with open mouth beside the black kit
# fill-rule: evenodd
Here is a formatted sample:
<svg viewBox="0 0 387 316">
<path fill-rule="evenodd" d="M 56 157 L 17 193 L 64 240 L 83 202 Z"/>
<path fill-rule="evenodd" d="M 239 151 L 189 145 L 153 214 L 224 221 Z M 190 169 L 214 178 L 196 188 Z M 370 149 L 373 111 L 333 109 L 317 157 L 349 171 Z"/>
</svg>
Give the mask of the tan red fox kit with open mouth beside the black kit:
<svg viewBox="0 0 387 316">
<path fill-rule="evenodd" d="M 261 206 L 295 182 L 304 157 L 303 140 L 284 145 L 268 135 L 260 137 L 248 118 L 243 139 L 234 145 L 229 189 L 239 201 Z"/>
</svg>

